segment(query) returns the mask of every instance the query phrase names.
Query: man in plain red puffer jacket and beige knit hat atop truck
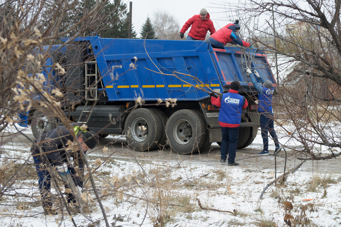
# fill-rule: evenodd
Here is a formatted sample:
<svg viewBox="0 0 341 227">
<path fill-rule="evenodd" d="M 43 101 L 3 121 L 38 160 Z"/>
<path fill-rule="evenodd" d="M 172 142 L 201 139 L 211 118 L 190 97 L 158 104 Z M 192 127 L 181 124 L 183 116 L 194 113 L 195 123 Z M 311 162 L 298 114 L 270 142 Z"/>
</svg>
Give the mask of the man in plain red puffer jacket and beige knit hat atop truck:
<svg viewBox="0 0 341 227">
<path fill-rule="evenodd" d="M 191 26 L 192 25 L 192 26 Z M 187 31 L 187 29 L 191 27 L 190 32 L 186 40 L 205 40 L 206 33 L 209 30 L 211 35 L 216 32 L 216 29 L 213 26 L 213 22 L 210 19 L 210 14 L 207 13 L 206 9 L 201 9 L 199 15 L 194 15 L 182 26 L 180 31 L 180 38 L 183 39 L 183 34 Z"/>
</svg>

